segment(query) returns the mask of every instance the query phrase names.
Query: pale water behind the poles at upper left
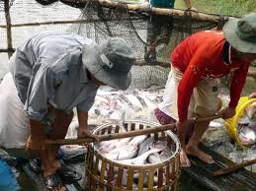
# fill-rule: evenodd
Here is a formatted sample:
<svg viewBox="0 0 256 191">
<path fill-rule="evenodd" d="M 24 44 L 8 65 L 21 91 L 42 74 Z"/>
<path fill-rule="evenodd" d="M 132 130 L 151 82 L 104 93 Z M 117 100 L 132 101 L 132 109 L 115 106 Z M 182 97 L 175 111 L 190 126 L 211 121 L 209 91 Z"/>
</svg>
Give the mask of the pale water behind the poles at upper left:
<svg viewBox="0 0 256 191">
<path fill-rule="evenodd" d="M 5 13 L 2 9 L 3 1 L 1 1 L 0 11 L 0 25 L 5 25 Z M 36 22 L 50 22 L 50 21 L 68 21 L 75 20 L 79 17 L 81 11 L 76 8 L 56 2 L 51 6 L 42 6 L 36 1 L 31 0 L 15 0 L 11 10 L 12 24 L 36 23 Z M 19 44 L 26 40 L 28 37 L 36 34 L 37 32 L 45 31 L 66 31 L 70 25 L 47 25 L 37 27 L 21 27 L 13 28 L 13 46 L 17 47 Z M 0 48 L 7 47 L 6 30 L 0 28 Z M 8 56 L 7 53 L 0 53 L 0 79 L 8 71 Z"/>
</svg>

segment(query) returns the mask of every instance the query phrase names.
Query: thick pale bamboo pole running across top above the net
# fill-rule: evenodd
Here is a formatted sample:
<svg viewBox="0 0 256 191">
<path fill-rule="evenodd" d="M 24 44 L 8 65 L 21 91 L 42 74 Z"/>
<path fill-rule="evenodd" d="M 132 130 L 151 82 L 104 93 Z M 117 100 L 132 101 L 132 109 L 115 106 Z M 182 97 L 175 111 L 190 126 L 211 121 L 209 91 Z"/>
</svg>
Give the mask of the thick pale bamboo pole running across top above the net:
<svg viewBox="0 0 256 191">
<path fill-rule="evenodd" d="M 123 8 L 123 9 L 127 9 L 128 11 L 147 12 L 155 15 L 164 15 L 164 16 L 182 17 L 184 16 L 185 12 L 188 12 L 184 10 L 169 9 L 169 8 L 168 9 L 155 8 L 155 7 L 149 8 L 149 7 L 141 6 L 141 4 L 128 4 L 128 3 L 121 3 L 117 1 L 111 1 L 111 0 L 61 0 L 62 3 L 68 4 L 68 5 L 70 4 L 86 5 L 88 1 L 99 3 L 100 5 L 108 8 Z M 192 19 L 200 20 L 200 21 L 218 23 L 218 21 L 220 20 L 218 15 L 206 14 L 201 12 L 191 11 L 190 15 Z"/>
</svg>

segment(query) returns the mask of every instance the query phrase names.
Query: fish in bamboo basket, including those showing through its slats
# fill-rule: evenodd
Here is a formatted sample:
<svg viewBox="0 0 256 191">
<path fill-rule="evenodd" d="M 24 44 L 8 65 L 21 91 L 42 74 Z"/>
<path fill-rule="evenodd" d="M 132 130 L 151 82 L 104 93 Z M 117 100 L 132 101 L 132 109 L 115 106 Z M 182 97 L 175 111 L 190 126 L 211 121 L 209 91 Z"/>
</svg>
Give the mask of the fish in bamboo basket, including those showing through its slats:
<svg viewBox="0 0 256 191">
<path fill-rule="evenodd" d="M 117 161 L 128 165 L 145 165 L 155 164 L 173 156 L 172 150 L 167 146 L 166 141 L 155 141 L 151 136 L 141 135 L 133 138 L 125 138 L 120 140 L 106 141 L 97 143 L 95 150 L 107 159 Z M 98 171 L 101 171 L 102 162 L 98 164 Z M 108 167 L 106 168 L 105 178 L 108 178 Z M 114 180 L 116 184 L 119 169 L 114 167 Z M 137 188 L 139 173 L 133 174 L 132 188 Z M 165 177 L 164 182 L 165 182 Z M 124 169 L 122 185 L 127 186 L 128 170 Z M 157 185 L 158 172 L 154 173 L 154 185 Z M 148 186 L 148 174 L 144 176 L 144 187 Z"/>
</svg>

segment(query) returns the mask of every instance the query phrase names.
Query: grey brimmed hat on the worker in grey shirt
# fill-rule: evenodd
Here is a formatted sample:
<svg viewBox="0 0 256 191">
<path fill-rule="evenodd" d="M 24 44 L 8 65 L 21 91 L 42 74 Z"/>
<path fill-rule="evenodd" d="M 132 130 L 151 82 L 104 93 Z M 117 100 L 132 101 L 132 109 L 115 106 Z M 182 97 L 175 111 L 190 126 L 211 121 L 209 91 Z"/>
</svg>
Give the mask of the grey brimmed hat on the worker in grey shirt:
<svg viewBox="0 0 256 191">
<path fill-rule="evenodd" d="M 84 45 L 82 61 L 97 80 L 116 89 L 128 89 L 135 55 L 123 38 L 110 37 L 98 45 Z"/>
</svg>

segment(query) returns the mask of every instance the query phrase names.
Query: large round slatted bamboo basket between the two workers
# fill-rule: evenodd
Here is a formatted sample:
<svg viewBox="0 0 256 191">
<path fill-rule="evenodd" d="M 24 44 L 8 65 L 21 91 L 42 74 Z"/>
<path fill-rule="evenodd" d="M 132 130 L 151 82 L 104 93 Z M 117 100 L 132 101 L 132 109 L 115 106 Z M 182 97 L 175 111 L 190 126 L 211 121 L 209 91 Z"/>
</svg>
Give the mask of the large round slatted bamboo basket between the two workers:
<svg viewBox="0 0 256 191">
<path fill-rule="evenodd" d="M 125 128 L 128 131 L 136 131 L 158 126 L 157 123 L 143 121 L 126 121 Z M 119 133 L 120 127 L 116 124 L 108 123 L 99 126 L 94 133 L 97 135 Z M 178 180 L 180 177 L 180 143 L 175 134 L 165 131 L 148 135 L 156 141 L 167 141 L 167 146 L 172 151 L 172 156 L 160 163 L 133 165 L 118 162 L 118 160 L 107 159 L 102 156 L 93 144 L 89 145 L 86 157 L 86 190 L 106 190 L 106 191 L 165 191 L 178 190 Z M 124 151 L 126 152 L 126 151 Z M 157 175 L 155 173 L 157 172 Z M 134 186 L 134 177 L 136 184 Z M 114 181 L 116 177 L 116 181 Z M 126 185 L 123 181 L 126 178 Z M 157 179 L 156 179 L 157 178 Z M 146 182 L 146 186 L 145 186 Z"/>
</svg>

